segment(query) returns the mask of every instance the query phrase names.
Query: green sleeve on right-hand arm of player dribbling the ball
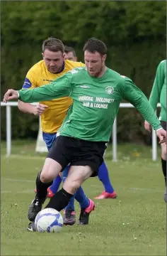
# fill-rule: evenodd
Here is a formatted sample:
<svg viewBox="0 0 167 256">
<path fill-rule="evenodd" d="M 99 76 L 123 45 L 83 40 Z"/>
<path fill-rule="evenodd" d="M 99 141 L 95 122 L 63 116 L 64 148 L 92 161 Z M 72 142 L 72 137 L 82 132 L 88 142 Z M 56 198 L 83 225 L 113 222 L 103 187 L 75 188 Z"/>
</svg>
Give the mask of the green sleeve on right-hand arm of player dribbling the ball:
<svg viewBox="0 0 167 256">
<path fill-rule="evenodd" d="M 123 98 L 129 101 L 142 114 L 142 117 L 151 124 L 154 130 L 161 129 L 159 119 L 151 107 L 144 93 L 134 85 L 129 78 L 125 78 Z"/>
</svg>

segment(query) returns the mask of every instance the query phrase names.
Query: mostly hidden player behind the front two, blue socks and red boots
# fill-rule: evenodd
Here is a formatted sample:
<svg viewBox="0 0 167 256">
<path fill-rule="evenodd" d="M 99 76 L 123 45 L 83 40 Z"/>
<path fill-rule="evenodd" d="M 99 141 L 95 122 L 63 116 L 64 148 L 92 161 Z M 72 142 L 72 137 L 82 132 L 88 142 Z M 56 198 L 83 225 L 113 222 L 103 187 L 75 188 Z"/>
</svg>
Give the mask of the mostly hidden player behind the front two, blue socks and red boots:
<svg viewBox="0 0 167 256">
<path fill-rule="evenodd" d="M 64 55 L 65 60 L 72 60 L 72 61 L 77 60 L 76 52 L 75 52 L 74 48 L 69 47 L 69 46 L 64 46 L 64 53 L 65 53 L 65 55 Z M 95 199 L 116 198 L 117 194 L 115 193 L 114 188 L 110 183 L 108 169 L 104 162 L 100 166 L 100 169 L 98 171 L 98 178 L 103 183 L 105 191 L 103 191 L 100 194 L 100 196 L 97 196 Z M 57 193 L 60 183 L 61 183 L 61 178 L 58 177 L 58 178 L 54 179 L 52 186 L 47 189 L 47 192 L 48 192 L 47 196 L 49 198 L 54 196 L 54 193 Z"/>
</svg>

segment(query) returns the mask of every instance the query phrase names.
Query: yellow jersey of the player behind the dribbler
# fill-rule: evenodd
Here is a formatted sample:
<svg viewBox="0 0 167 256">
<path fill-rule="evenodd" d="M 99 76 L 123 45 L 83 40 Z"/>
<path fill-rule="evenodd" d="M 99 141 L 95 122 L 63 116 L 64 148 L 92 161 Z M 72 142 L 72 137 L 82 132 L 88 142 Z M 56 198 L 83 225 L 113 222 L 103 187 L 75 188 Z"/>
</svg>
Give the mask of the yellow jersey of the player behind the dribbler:
<svg viewBox="0 0 167 256">
<path fill-rule="evenodd" d="M 40 60 L 28 71 L 22 88 L 32 89 L 42 85 L 50 84 L 50 82 L 61 77 L 69 70 L 83 66 L 85 66 L 85 64 L 81 62 L 64 60 L 64 70 L 62 70 L 61 73 L 52 74 L 47 70 L 44 60 Z M 62 125 L 69 106 L 72 103 L 72 99 L 70 97 L 62 97 L 56 100 L 40 103 L 47 105 L 48 107 L 47 110 L 45 110 L 45 112 L 43 112 L 41 115 L 42 131 L 47 133 L 57 132 L 59 127 Z"/>
</svg>

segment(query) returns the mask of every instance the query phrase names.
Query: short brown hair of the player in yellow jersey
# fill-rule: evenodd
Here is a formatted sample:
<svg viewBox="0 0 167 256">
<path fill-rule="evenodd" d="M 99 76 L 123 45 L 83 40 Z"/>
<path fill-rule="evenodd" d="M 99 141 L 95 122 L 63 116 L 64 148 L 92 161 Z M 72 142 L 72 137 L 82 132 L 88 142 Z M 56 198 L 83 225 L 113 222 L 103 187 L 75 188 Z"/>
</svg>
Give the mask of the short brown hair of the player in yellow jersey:
<svg viewBox="0 0 167 256">
<path fill-rule="evenodd" d="M 51 50 L 53 52 L 61 51 L 64 53 L 64 44 L 61 40 L 50 37 L 42 43 L 42 52 L 44 52 L 45 49 Z"/>
</svg>

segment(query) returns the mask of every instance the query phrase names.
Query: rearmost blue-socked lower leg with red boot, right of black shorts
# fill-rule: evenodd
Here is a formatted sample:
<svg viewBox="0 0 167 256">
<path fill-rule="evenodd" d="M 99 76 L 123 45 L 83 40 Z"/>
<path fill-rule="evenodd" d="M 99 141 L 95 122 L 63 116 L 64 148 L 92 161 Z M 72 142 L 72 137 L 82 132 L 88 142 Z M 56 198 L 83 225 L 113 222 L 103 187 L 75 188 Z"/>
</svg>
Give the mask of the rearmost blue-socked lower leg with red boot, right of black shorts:
<svg viewBox="0 0 167 256">
<path fill-rule="evenodd" d="M 104 161 L 103 161 L 103 164 L 101 164 L 98 169 L 98 178 L 103 183 L 105 191 L 103 191 L 100 194 L 100 196 L 97 196 L 96 199 L 116 198 L 117 194 L 115 193 L 114 188 L 110 183 L 108 168 L 105 165 Z"/>
</svg>

